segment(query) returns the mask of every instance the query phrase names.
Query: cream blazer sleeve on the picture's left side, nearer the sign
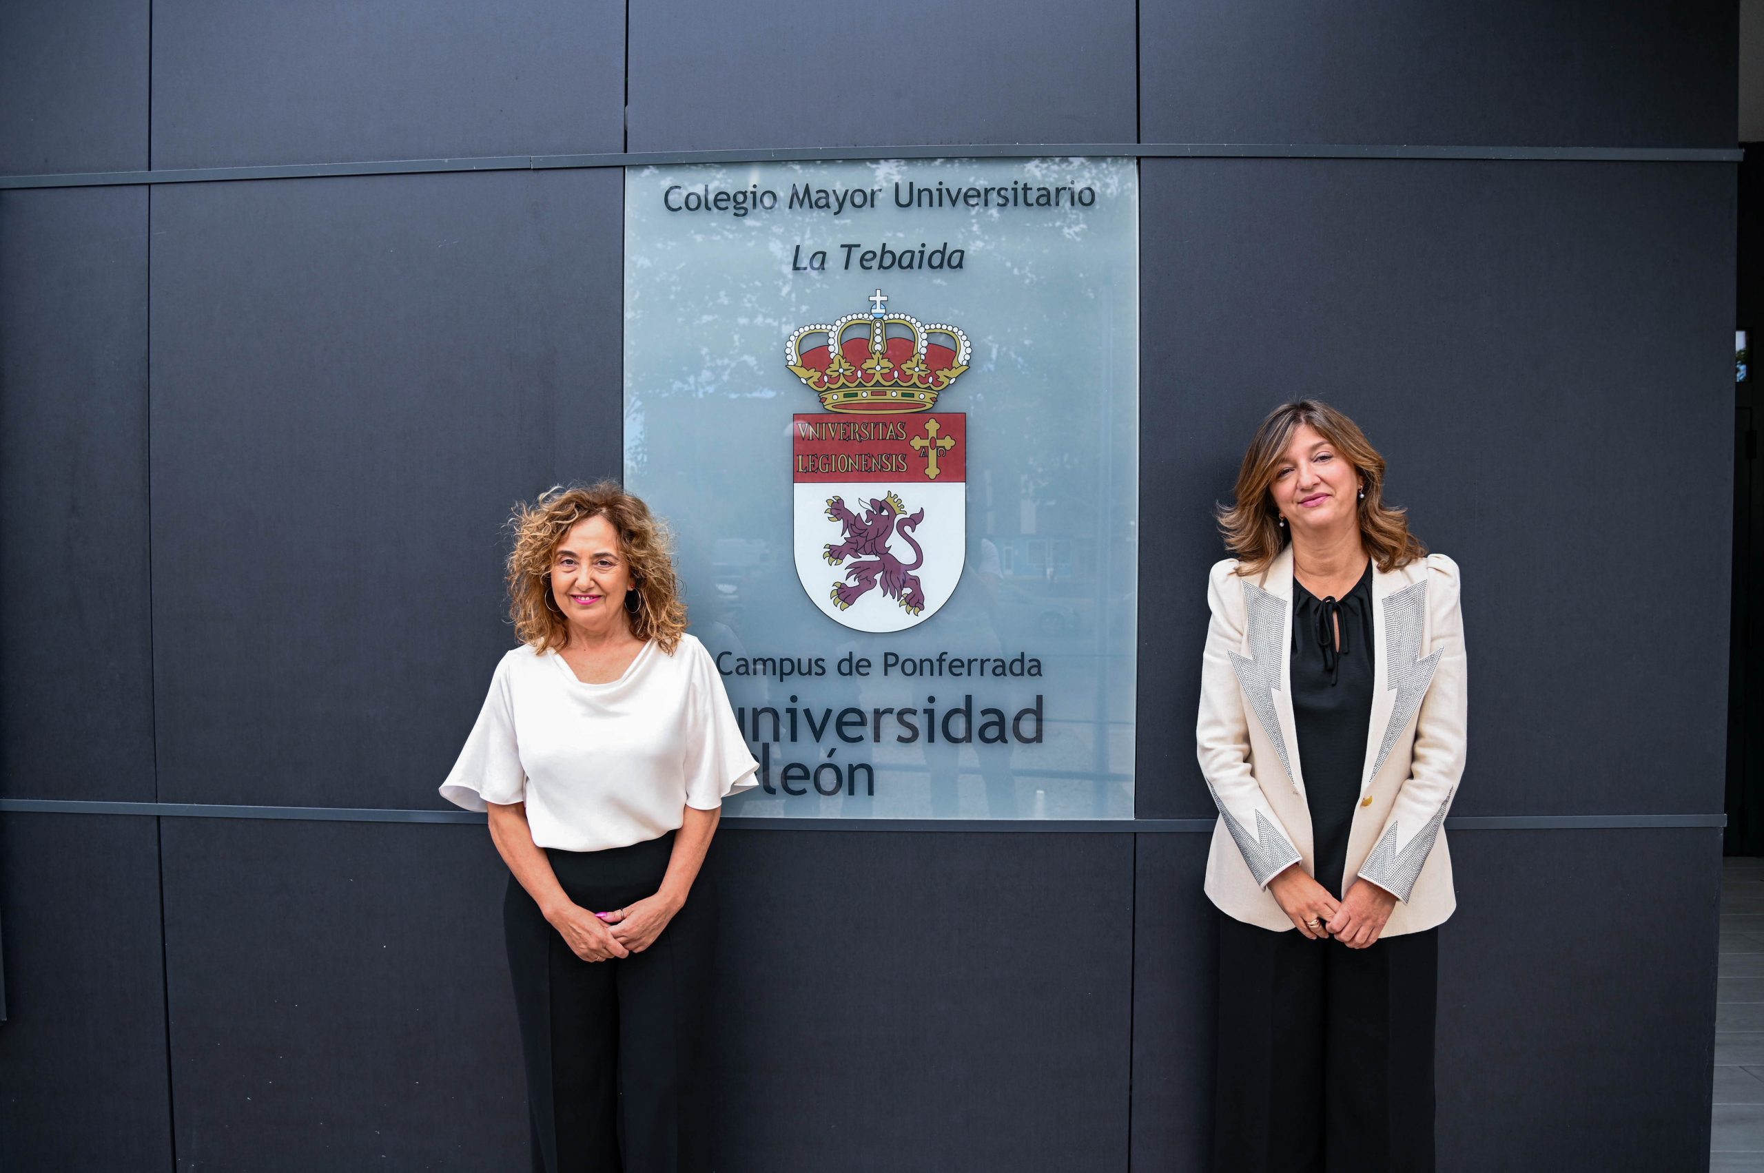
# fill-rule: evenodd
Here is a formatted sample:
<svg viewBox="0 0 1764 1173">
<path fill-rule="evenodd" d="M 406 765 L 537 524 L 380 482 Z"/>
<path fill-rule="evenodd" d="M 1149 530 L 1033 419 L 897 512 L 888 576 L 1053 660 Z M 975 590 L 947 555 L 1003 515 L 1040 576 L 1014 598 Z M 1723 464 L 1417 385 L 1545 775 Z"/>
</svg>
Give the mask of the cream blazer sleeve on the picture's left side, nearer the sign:
<svg viewBox="0 0 1764 1173">
<path fill-rule="evenodd" d="M 1256 885 L 1268 887 L 1268 880 L 1298 863 L 1300 855 L 1249 767 L 1249 711 L 1233 665 L 1233 656 L 1244 646 L 1249 596 L 1235 570 L 1237 561 L 1226 559 L 1212 568 L 1207 580 L 1212 619 L 1201 656 L 1201 711 L 1194 725 L 1194 744 L 1219 818 L 1244 854 Z M 1277 639 L 1274 644 L 1258 647 L 1258 658 L 1284 651 Z"/>
</svg>

